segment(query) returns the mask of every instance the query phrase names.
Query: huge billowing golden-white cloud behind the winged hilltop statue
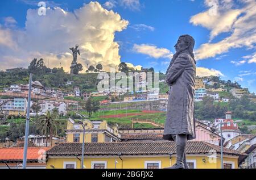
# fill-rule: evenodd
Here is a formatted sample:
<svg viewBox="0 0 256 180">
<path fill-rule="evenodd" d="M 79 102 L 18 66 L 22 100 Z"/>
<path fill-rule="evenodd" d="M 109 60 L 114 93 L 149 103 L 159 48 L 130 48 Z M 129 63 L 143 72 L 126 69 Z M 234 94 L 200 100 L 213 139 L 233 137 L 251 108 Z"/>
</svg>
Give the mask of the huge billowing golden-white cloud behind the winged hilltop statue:
<svg viewBox="0 0 256 180">
<path fill-rule="evenodd" d="M 14 21 L 13 21 L 14 22 Z M 47 9 L 46 16 L 38 10 L 27 11 L 24 30 L 0 26 L 1 68 L 27 66 L 34 58 L 44 58 L 49 66 L 64 66 L 69 70 L 72 56 L 69 48 L 80 45 L 78 61 L 84 65 L 101 63 L 105 70 L 119 65 L 119 45 L 115 32 L 127 28 L 129 22 L 98 2 L 90 2 L 74 12 L 59 7 Z"/>
</svg>

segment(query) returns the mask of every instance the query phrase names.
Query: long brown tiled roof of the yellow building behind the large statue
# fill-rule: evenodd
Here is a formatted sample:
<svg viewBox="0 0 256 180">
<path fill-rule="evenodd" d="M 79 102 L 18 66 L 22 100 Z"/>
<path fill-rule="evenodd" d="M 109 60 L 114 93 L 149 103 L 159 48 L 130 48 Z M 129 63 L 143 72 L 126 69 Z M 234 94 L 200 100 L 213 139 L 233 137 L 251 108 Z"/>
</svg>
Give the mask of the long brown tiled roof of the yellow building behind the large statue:
<svg viewBox="0 0 256 180">
<path fill-rule="evenodd" d="M 206 153 L 216 150 L 220 153 L 220 146 L 206 143 L 204 141 L 188 141 L 187 154 Z M 81 143 L 63 143 L 47 150 L 47 155 L 78 155 L 82 152 Z M 133 155 L 133 154 L 169 154 L 176 153 L 174 142 L 155 141 L 155 142 L 133 142 L 133 143 L 86 143 L 86 155 Z M 224 154 L 234 156 L 245 156 L 245 153 L 224 148 Z"/>
</svg>

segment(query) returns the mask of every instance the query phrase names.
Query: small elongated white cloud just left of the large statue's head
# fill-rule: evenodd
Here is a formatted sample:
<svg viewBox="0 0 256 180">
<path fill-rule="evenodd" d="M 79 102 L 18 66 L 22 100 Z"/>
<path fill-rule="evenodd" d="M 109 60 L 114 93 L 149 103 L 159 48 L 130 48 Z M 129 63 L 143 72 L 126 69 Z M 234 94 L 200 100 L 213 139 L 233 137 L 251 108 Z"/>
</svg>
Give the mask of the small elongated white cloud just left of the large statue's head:
<svg viewBox="0 0 256 180">
<path fill-rule="evenodd" d="M 158 48 L 150 44 L 134 44 L 133 50 L 137 53 L 142 53 L 154 58 L 172 58 L 173 53 L 166 48 Z"/>
</svg>

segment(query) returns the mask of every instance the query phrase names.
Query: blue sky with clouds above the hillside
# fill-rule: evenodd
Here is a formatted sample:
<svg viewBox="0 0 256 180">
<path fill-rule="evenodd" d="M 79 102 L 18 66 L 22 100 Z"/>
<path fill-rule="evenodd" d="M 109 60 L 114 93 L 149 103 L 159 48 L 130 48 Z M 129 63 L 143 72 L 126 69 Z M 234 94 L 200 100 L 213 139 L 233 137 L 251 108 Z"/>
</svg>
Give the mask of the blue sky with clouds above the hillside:
<svg viewBox="0 0 256 180">
<path fill-rule="evenodd" d="M 43 58 L 50 68 L 120 62 L 166 72 L 180 35 L 195 38 L 198 76 L 220 76 L 256 93 L 254 0 L 1 1 L 0 69 Z"/>
</svg>

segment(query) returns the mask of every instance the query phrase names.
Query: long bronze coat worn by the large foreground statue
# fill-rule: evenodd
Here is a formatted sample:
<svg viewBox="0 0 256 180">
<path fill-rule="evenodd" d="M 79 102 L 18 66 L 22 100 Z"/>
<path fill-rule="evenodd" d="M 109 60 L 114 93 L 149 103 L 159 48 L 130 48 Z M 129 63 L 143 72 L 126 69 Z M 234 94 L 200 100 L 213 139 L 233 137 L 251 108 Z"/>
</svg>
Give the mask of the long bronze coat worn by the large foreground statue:
<svg viewBox="0 0 256 180">
<path fill-rule="evenodd" d="M 195 139 L 195 78 L 196 61 L 188 51 L 172 60 L 166 77 L 170 91 L 163 139 L 174 141 L 171 135 L 180 134 Z"/>
</svg>

